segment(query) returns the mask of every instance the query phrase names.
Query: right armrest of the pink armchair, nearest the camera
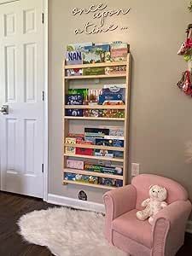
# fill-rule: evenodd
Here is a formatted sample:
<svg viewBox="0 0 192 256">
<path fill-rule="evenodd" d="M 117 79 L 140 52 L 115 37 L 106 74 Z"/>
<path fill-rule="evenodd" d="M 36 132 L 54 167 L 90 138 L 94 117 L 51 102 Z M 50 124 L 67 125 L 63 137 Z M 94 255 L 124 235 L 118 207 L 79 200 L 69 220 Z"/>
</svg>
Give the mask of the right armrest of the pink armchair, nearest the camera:
<svg viewBox="0 0 192 256">
<path fill-rule="evenodd" d="M 177 253 L 177 249 L 183 245 L 185 228 L 191 208 L 190 201 L 175 201 L 154 216 L 152 227 L 153 255 L 164 255 L 163 253 L 173 255 L 173 253 Z"/>
</svg>

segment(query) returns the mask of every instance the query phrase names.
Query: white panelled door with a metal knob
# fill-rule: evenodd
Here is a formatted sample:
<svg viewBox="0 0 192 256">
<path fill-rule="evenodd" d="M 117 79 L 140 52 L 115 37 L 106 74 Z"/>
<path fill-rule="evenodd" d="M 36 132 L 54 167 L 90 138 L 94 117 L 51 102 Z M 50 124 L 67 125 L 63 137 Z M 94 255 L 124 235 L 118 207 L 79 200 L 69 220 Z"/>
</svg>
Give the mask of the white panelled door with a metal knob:
<svg viewBox="0 0 192 256">
<path fill-rule="evenodd" d="M 6 2 L 6 1 L 4 1 Z M 43 197 L 43 0 L 0 5 L 1 190 Z M 2 107 L 2 105 L 0 105 Z"/>
</svg>

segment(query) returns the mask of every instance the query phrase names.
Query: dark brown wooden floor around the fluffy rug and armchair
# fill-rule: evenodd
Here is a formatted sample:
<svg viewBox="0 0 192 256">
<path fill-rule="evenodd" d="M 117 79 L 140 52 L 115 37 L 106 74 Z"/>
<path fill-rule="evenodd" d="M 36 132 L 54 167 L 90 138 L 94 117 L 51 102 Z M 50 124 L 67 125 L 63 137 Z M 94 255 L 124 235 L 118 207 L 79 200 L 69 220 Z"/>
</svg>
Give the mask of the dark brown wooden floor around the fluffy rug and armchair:
<svg viewBox="0 0 192 256">
<path fill-rule="evenodd" d="M 53 255 L 45 247 L 39 247 L 22 241 L 17 233 L 18 226 L 16 224 L 23 214 L 33 210 L 47 209 L 48 207 L 54 206 L 34 198 L 0 192 L 0 256 Z M 177 253 L 177 256 L 191 255 L 192 235 L 186 234 L 185 244 Z"/>
</svg>

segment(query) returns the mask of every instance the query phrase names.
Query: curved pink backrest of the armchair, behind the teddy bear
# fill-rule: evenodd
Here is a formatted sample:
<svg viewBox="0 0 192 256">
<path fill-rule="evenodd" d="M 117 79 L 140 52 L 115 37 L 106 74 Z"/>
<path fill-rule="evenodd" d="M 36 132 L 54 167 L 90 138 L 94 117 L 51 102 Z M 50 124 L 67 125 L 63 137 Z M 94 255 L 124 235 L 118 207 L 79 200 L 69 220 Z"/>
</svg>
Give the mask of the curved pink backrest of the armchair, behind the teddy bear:
<svg viewBox="0 0 192 256">
<path fill-rule="evenodd" d="M 169 179 L 167 177 L 161 177 L 152 174 L 141 174 L 132 179 L 132 185 L 137 189 L 137 209 L 141 209 L 141 203 L 149 197 L 148 190 L 150 185 L 160 185 L 167 190 L 168 204 L 173 201 L 186 201 L 188 200 L 188 192 L 182 185 Z"/>
</svg>

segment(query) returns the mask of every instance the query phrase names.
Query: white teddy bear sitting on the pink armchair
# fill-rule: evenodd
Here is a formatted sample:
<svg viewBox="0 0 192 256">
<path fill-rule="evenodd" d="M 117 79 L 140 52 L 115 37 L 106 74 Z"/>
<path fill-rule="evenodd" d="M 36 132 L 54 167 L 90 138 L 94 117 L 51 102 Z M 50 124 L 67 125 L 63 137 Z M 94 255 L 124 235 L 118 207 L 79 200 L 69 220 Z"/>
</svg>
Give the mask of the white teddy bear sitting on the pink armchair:
<svg viewBox="0 0 192 256">
<path fill-rule="evenodd" d="M 145 207 L 145 209 L 137 212 L 137 218 L 140 220 L 148 218 L 149 224 L 153 224 L 154 215 L 167 206 L 167 192 L 165 188 L 162 188 L 159 185 L 152 185 L 149 189 L 149 196 L 150 198 L 142 202 L 142 207 Z"/>
</svg>

